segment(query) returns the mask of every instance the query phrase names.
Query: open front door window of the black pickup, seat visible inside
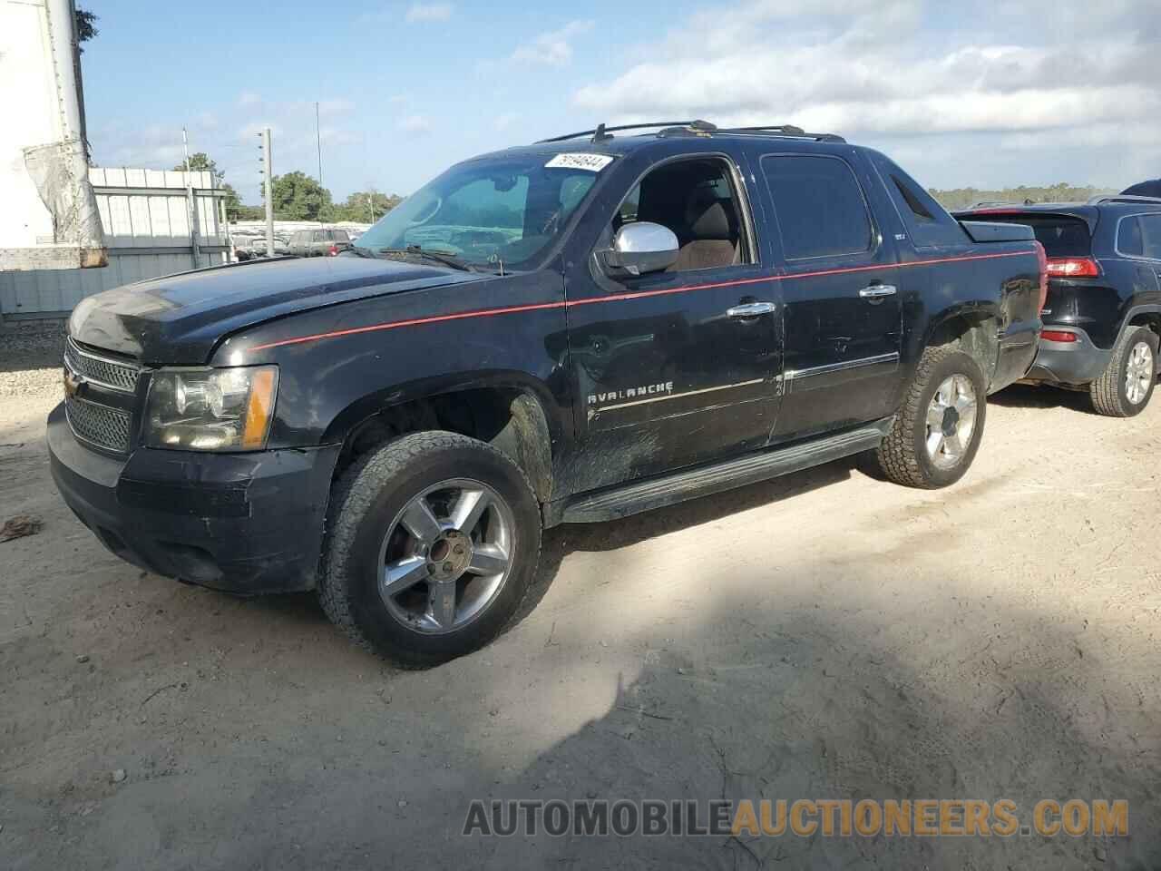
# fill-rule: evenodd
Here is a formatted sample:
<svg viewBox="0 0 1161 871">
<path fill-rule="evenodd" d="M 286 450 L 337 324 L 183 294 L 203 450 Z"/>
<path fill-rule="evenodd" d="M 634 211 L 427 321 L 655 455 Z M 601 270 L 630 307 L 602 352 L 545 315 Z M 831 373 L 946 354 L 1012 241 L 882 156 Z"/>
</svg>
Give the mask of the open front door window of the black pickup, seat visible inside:
<svg viewBox="0 0 1161 871">
<path fill-rule="evenodd" d="M 677 236 L 677 261 L 666 272 L 694 272 L 753 262 L 729 167 L 719 158 L 665 164 L 626 195 L 613 231 L 639 221 Z"/>
</svg>

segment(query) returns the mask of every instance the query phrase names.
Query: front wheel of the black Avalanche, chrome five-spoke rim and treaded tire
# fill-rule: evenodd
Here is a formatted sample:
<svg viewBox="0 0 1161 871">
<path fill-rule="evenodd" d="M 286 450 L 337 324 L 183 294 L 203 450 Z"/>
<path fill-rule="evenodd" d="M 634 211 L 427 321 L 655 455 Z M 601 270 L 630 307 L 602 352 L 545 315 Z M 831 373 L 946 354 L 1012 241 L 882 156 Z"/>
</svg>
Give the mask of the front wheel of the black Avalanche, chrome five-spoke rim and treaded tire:
<svg viewBox="0 0 1161 871">
<path fill-rule="evenodd" d="M 453 527 L 468 492 L 481 494 L 488 508 L 461 524 L 464 532 Z M 413 517 L 423 523 L 406 519 Z M 430 530 L 430 519 L 438 534 L 412 533 Z M 532 487 L 503 453 L 450 432 L 404 436 L 367 454 L 336 484 L 319 600 L 363 648 L 403 668 L 437 665 L 504 631 L 535 577 L 540 533 Z M 466 554 L 455 556 L 461 547 Z M 483 576 L 499 564 L 497 554 L 507 560 L 503 575 Z"/>
</svg>

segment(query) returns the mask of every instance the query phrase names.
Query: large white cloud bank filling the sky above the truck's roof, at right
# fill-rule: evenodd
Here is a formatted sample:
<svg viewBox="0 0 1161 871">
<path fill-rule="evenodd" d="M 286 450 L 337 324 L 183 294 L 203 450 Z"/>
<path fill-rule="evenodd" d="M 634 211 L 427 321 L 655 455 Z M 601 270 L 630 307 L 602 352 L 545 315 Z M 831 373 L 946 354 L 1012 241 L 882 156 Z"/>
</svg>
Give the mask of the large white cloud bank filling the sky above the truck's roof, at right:
<svg viewBox="0 0 1161 871">
<path fill-rule="evenodd" d="M 1088 16 L 1086 0 L 989 0 L 952 29 L 939 21 L 942 0 L 751 0 L 728 15 L 691 16 L 633 52 L 648 60 L 580 87 L 574 103 L 607 121 L 705 117 L 872 138 L 1005 135 L 996 147 L 1026 144 L 1015 134 L 1055 147 L 1108 125 L 1137 131 L 1122 137 L 1125 147 L 1152 141 L 1156 152 L 1156 2 L 1108 0 Z M 1060 21 L 1083 26 L 1057 33 Z"/>
</svg>

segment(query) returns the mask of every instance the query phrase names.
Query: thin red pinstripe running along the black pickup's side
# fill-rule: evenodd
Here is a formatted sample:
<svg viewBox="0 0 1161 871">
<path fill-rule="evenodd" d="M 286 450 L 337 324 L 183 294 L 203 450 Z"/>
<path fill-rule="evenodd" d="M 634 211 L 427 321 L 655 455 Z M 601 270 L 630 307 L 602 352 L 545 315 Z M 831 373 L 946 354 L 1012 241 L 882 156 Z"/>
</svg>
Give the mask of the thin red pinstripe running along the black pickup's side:
<svg viewBox="0 0 1161 871">
<path fill-rule="evenodd" d="M 444 321 L 462 321 L 469 317 L 491 317 L 493 315 L 515 315 L 520 311 L 540 311 L 543 309 L 570 309 L 574 305 L 591 305 L 600 302 L 625 302 L 627 300 L 642 300 L 647 296 L 668 296 L 669 294 L 686 294 L 694 290 L 712 290 L 720 287 L 742 287 L 744 285 L 760 285 L 769 281 L 794 281 L 796 279 L 822 278 L 824 275 L 845 275 L 857 272 L 875 272 L 889 268 L 906 268 L 910 266 L 931 266 L 932 264 L 953 264 L 965 260 L 996 260 L 1003 257 L 1034 257 L 1031 251 L 1009 251 L 1002 254 L 965 254 L 962 257 L 942 257 L 931 260 L 913 260 L 903 264 L 878 264 L 874 266 L 849 266 L 842 269 L 821 269 L 819 272 L 800 272 L 791 275 L 760 275 L 752 279 L 735 279 L 734 281 L 715 281 L 708 285 L 686 285 L 684 287 L 668 287 L 658 290 L 639 290 L 632 294 L 615 294 L 610 296 L 587 296 L 580 300 L 562 300 L 561 302 L 541 302 L 529 305 L 507 305 L 499 309 L 476 309 L 474 311 L 457 311 L 453 315 L 433 315 L 431 317 L 417 317 L 409 321 L 390 321 L 385 324 L 372 324 L 369 326 L 353 326 L 347 330 L 332 330 L 311 336 L 298 336 L 293 339 L 279 339 L 268 341 L 265 345 L 254 345 L 251 351 L 266 351 L 272 347 L 283 345 L 301 345 L 307 341 L 318 341 L 320 339 L 336 339 L 340 336 L 354 336 L 361 332 L 377 332 L 380 330 L 395 330 L 401 326 L 420 326 L 423 324 L 438 324 Z"/>
</svg>

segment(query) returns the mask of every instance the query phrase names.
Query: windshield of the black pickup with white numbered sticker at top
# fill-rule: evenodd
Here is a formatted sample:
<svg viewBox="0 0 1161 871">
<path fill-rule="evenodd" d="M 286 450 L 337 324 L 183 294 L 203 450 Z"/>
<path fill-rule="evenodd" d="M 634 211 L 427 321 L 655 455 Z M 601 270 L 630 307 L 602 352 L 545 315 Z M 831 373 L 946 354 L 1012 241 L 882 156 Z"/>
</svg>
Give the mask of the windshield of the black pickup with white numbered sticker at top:
<svg viewBox="0 0 1161 871">
<path fill-rule="evenodd" d="M 387 213 L 355 247 L 378 253 L 418 245 L 474 266 L 520 268 L 551 244 L 597 180 L 591 168 L 546 166 L 554 161 L 520 154 L 453 166 Z"/>
</svg>

